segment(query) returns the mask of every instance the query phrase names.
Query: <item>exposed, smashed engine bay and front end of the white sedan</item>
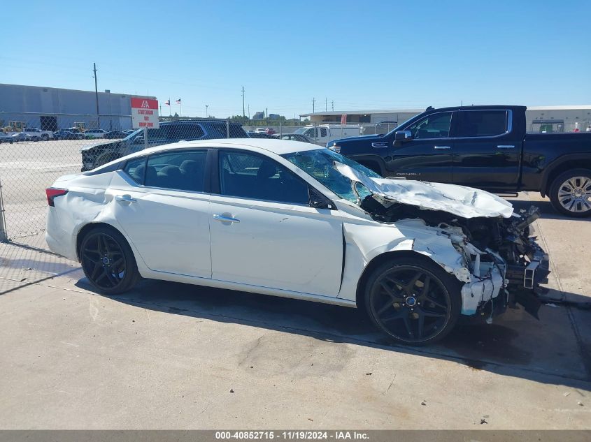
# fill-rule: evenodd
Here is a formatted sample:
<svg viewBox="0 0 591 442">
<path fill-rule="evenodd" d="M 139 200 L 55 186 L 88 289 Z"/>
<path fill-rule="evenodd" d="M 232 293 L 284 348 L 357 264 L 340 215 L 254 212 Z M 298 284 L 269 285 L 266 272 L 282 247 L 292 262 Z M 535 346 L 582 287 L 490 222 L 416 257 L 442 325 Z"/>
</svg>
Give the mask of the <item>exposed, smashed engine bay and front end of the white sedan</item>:
<svg viewBox="0 0 591 442">
<path fill-rule="evenodd" d="M 374 195 L 366 196 L 361 207 L 380 223 L 419 221 L 450 237 L 470 271 L 462 288 L 462 314 L 492 317 L 519 302 L 537 318 L 541 303 L 536 291 L 540 290 L 539 283 L 548 281 L 550 273 L 548 255 L 531 236 L 531 224 L 540 216 L 537 207 L 513 213 L 509 218 L 463 218 L 397 202 L 386 207 L 384 200 Z"/>
</svg>

